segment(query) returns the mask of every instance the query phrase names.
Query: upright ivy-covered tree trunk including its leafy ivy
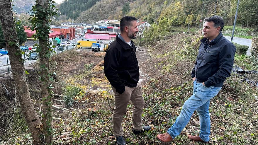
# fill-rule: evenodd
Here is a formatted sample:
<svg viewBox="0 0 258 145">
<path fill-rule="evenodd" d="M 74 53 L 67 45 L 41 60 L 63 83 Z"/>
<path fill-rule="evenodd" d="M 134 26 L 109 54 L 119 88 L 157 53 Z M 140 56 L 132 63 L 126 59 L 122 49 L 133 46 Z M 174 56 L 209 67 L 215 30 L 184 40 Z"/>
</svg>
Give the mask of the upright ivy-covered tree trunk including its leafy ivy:
<svg viewBox="0 0 258 145">
<path fill-rule="evenodd" d="M 53 142 L 52 130 L 52 102 L 51 102 L 51 77 L 49 58 L 53 53 L 52 47 L 49 44 L 49 31 L 51 17 L 57 14 L 57 9 L 53 5 L 52 0 L 37 0 L 32 7 L 34 15 L 30 17 L 31 30 L 35 30 L 34 38 L 38 38 L 39 45 L 36 51 L 39 52 L 40 62 L 40 81 L 41 93 L 43 101 L 43 134 L 45 137 L 45 144 L 50 145 Z"/>
</svg>

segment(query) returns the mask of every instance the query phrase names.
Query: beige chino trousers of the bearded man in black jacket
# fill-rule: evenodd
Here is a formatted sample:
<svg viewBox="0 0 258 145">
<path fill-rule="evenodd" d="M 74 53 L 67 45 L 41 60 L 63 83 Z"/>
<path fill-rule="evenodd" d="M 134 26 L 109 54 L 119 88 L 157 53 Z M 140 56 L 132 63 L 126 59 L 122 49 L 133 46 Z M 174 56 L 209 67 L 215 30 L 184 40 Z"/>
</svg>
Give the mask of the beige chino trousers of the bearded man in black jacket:
<svg viewBox="0 0 258 145">
<path fill-rule="evenodd" d="M 142 110 L 144 107 L 144 98 L 142 96 L 142 85 L 137 83 L 136 87 L 125 86 L 125 92 L 119 94 L 111 86 L 115 95 L 115 109 L 113 111 L 113 134 L 115 137 L 123 135 L 122 120 L 126 113 L 126 108 L 131 100 L 133 103 L 133 129 L 142 130 Z"/>
</svg>

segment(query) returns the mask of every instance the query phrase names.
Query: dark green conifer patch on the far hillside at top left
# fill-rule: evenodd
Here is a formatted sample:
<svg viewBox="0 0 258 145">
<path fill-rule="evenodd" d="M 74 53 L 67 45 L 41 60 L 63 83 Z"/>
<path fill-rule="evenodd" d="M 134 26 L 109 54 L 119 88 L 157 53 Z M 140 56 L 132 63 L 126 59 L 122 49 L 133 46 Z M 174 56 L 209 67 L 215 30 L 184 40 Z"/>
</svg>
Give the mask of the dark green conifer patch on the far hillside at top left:
<svg viewBox="0 0 258 145">
<path fill-rule="evenodd" d="M 62 19 L 77 19 L 80 13 L 91 8 L 100 0 L 65 0 L 59 6 Z"/>
</svg>

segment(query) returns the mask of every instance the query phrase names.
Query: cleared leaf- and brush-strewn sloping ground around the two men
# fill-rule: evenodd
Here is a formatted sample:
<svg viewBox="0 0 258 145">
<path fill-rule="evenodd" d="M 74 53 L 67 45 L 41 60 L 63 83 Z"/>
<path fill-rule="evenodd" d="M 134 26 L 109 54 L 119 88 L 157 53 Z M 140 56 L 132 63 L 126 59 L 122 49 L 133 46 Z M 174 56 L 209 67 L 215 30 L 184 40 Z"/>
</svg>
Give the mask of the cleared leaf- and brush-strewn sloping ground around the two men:
<svg viewBox="0 0 258 145">
<path fill-rule="evenodd" d="M 137 136 L 132 133 L 133 104 L 130 102 L 122 122 L 123 135 L 128 145 L 160 145 L 155 136 L 166 132 L 175 122 L 182 105 L 193 93 L 191 69 L 201 38 L 201 35 L 171 33 L 151 47 L 137 48 L 136 56 L 145 99 L 142 123 L 150 124 L 152 130 Z M 167 44 L 166 47 L 164 44 Z M 52 82 L 55 94 L 52 96 L 52 104 L 55 107 L 69 108 L 52 108 L 53 117 L 62 118 L 53 120 L 53 144 L 116 144 L 112 133 L 112 111 L 106 99 L 109 97 L 113 108 L 114 96 L 104 74 L 104 56 L 105 52 L 102 51 L 72 49 L 51 57 L 51 71 L 57 74 Z M 249 57 L 236 54 L 234 64 L 244 70 L 257 70 L 257 63 L 250 61 Z M 34 63 L 31 67 L 33 68 L 28 70 L 27 75 L 28 87 L 35 110 L 41 115 L 40 76 L 37 73 L 40 66 Z M 232 72 L 218 95 L 211 99 L 210 144 L 254 145 L 258 141 L 258 100 L 255 99 L 258 88 L 250 82 L 243 82 L 243 75 Z M 257 74 L 245 74 L 245 77 L 249 80 L 258 78 Z M 10 76 L 0 78 L 0 86 L 5 85 L 11 94 L 6 96 L 5 91 L 0 91 L 0 129 L 8 130 L 0 132 L 0 144 L 32 144 L 28 126 L 15 99 L 14 81 Z M 75 94 L 77 95 L 74 96 Z M 78 102 L 74 102 L 75 100 Z M 89 108 L 96 108 L 97 111 L 90 114 Z M 201 145 L 187 139 L 187 134 L 197 135 L 199 129 L 199 116 L 194 112 L 180 136 L 171 144 Z"/>
</svg>

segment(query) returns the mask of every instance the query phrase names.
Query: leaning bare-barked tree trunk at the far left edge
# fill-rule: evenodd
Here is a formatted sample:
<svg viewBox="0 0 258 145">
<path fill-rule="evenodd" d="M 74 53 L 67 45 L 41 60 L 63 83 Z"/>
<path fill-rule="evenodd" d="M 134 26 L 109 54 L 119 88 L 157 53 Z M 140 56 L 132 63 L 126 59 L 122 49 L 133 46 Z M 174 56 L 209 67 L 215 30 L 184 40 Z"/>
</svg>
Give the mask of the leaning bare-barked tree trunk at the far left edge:
<svg viewBox="0 0 258 145">
<path fill-rule="evenodd" d="M 32 134 L 33 144 L 43 144 L 40 142 L 41 132 L 35 128 L 37 124 L 40 124 L 41 122 L 30 98 L 23 64 L 24 61 L 22 59 L 21 50 L 19 48 L 16 28 L 13 21 L 13 13 L 11 10 L 11 2 L 9 0 L 0 0 L 0 19 L 6 47 L 8 48 L 9 52 L 13 79 L 15 82 L 15 87 L 17 88 L 17 98 L 21 104 L 21 110 Z"/>
</svg>

